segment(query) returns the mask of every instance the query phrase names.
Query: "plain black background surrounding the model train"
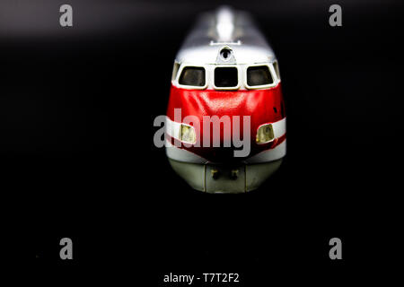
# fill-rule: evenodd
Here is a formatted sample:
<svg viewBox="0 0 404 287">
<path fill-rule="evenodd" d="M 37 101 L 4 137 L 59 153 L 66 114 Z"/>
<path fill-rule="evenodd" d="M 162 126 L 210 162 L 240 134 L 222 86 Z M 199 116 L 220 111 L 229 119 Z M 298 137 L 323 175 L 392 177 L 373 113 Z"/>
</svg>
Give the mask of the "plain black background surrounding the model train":
<svg viewBox="0 0 404 287">
<path fill-rule="evenodd" d="M 181 41 L 222 3 L 69 1 L 72 28 L 58 24 L 61 4 L 0 6 L 2 189 L 35 199 L 36 279 L 329 285 L 373 280 L 398 257 L 400 1 L 230 3 L 277 54 L 288 131 L 277 174 L 230 196 L 193 191 L 153 143 Z M 342 27 L 329 26 L 330 4 Z M 58 259 L 62 237 L 72 262 Z M 342 261 L 329 260 L 333 237 Z"/>
</svg>

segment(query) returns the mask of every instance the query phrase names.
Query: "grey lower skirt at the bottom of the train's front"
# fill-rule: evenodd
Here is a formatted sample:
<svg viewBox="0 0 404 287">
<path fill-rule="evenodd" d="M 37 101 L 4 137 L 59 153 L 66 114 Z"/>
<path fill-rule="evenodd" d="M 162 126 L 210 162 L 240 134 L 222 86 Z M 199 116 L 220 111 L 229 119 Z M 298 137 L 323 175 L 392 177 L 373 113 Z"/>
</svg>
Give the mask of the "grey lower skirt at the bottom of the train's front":
<svg viewBox="0 0 404 287">
<path fill-rule="evenodd" d="M 233 165 L 190 163 L 168 159 L 190 187 L 207 193 L 245 193 L 258 188 L 282 163 L 282 159 Z"/>
</svg>

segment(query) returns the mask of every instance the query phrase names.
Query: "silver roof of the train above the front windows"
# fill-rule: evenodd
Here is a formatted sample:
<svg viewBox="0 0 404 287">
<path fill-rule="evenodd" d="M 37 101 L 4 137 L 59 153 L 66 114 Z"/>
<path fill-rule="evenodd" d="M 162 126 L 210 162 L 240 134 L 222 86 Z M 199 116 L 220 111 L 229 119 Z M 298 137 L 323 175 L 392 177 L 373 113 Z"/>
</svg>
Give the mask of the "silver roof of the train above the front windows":
<svg viewBox="0 0 404 287">
<path fill-rule="evenodd" d="M 227 48 L 231 57 L 220 57 Z M 249 14 L 221 7 L 204 13 L 185 39 L 176 61 L 194 65 L 253 64 L 276 59 Z"/>
</svg>

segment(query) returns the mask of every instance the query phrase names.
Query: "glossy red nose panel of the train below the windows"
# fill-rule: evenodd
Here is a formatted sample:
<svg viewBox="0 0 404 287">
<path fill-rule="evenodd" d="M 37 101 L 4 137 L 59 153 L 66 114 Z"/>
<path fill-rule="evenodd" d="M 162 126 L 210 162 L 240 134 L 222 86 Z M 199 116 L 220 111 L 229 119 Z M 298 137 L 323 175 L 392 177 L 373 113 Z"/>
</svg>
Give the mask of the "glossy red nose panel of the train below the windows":
<svg viewBox="0 0 404 287">
<path fill-rule="evenodd" d="M 255 141 L 257 128 L 265 123 L 277 122 L 285 117 L 285 106 L 282 97 L 280 83 L 276 87 L 266 90 L 247 90 L 247 91 L 215 91 L 215 90 L 188 90 L 181 89 L 171 85 L 171 95 L 167 109 L 167 116 L 174 119 L 174 109 L 181 109 L 181 119 L 186 116 L 196 116 L 201 123 L 195 126 L 197 133 L 197 142 L 201 143 L 203 131 L 203 116 L 239 116 L 241 122 L 242 135 L 242 117 L 250 116 L 250 156 L 263 150 L 274 148 L 277 144 L 285 140 L 285 136 L 276 139 L 271 143 L 257 144 Z M 223 126 L 222 126 L 223 128 Z M 210 139 L 212 146 L 212 127 L 210 129 Z M 233 126 L 232 126 L 233 130 Z M 223 146 L 224 136 L 221 134 L 221 146 Z M 200 144 L 202 146 L 202 144 Z M 210 161 L 228 161 L 233 160 L 233 148 L 206 148 L 206 147 L 182 147 L 191 152 L 206 158 Z"/>
</svg>

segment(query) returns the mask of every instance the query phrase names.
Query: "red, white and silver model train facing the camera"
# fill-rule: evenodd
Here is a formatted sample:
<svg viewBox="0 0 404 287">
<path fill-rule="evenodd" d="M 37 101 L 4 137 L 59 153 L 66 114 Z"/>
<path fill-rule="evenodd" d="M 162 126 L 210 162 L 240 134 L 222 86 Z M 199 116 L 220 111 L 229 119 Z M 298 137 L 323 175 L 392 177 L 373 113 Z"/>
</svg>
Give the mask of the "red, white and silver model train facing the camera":
<svg viewBox="0 0 404 287">
<path fill-rule="evenodd" d="M 171 167 L 195 189 L 247 192 L 279 168 L 286 116 L 277 58 L 249 14 L 223 7 L 200 17 L 174 62 L 165 126 Z"/>
</svg>

